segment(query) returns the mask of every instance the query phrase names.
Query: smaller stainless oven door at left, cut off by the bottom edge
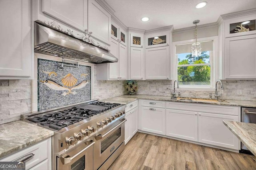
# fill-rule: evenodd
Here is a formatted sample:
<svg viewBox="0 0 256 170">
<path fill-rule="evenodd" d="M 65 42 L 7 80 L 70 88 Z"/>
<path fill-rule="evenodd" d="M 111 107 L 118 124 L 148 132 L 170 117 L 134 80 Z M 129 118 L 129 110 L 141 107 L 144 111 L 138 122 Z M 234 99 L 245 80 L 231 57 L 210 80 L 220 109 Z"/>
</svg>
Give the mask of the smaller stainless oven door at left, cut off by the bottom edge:
<svg viewBox="0 0 256 170">
<path fill-rule="evenodd" d="M 94 143 L 86 141 L 57 157 L 57 170 L 92 170 Z"/>
</svg>

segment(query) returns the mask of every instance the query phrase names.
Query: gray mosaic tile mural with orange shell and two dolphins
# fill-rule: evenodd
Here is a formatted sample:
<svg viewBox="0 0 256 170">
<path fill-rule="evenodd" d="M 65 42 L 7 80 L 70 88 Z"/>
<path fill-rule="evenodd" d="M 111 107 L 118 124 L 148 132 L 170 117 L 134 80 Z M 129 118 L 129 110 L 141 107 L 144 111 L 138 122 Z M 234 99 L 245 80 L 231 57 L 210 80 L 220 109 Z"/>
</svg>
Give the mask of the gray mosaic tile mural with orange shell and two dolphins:
<svg viewBox="0 0 256 170">
<path fill-rule="evenodd" d="M 91 67 L 38 59 L 38 111 L 91 100 Z"/>
</svg>

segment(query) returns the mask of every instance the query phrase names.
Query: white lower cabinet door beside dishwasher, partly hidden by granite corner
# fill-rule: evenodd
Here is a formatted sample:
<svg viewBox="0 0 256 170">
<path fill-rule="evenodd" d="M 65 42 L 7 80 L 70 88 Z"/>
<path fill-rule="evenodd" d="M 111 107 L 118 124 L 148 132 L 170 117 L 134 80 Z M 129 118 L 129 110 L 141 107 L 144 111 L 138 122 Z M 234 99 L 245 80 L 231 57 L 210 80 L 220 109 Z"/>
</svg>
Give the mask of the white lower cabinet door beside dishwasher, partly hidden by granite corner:
<svg viewBox="0 0 256 170">
<path fill-rule="evenodd" d="M 198 112 L 198 142 L 238 149 L 238 138 L 223 124 L 238 121 L 238 116 Z"/>
</svg>

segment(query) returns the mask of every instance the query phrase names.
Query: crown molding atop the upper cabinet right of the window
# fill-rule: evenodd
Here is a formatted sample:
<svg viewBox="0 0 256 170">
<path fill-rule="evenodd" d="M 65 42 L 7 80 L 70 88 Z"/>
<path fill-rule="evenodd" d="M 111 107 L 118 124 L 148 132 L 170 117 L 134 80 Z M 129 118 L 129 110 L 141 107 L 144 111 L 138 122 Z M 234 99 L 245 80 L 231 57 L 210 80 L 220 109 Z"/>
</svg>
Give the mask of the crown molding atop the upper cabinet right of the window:
<svg viewBox="0 0 256 170">
<path fill-rule="evenodd" d="M 250 10 L 232 12 L 232 13 L 229 13 L 229 14 L 223 14 L 223 15 L 220 15 L 220 17 L 217 20 L 217 23 L 220 25 L 220 23 L 223 20 L 227 20 L 227 19 L 231 19 L 231 18 L 237 18 L 237 17 L 241 17 L 241 16 L 248 16 L 248 15 L 252 15 L 252 14 L 256 14 L 256 8 L 253 8 L 253 9 L 250 9 Z"/>
</svg>

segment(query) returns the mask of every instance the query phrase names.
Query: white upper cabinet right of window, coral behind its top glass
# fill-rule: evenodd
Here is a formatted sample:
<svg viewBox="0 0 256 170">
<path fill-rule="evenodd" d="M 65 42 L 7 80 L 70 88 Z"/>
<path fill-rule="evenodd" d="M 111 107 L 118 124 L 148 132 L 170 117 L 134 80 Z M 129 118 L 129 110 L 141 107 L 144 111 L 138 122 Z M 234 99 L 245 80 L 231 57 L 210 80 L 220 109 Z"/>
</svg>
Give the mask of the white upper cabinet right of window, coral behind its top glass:
<svg viewBox="0 0 256 170">
<path fill-rule="evenodd" d="M 237 16 L 223 16 L 219 25 L 219 78 L 256 79 L 256 14 Z"/>
</svg>

